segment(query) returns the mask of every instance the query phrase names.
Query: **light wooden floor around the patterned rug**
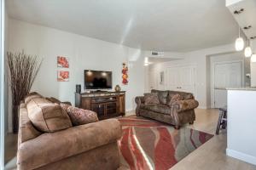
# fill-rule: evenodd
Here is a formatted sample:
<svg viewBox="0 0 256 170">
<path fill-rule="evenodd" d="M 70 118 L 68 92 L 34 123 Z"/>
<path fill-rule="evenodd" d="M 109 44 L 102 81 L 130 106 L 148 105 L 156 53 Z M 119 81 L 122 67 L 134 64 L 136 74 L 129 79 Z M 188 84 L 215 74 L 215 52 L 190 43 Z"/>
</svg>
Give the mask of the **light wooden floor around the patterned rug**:
<svg viewBox="0 0 256 170">
<path fill-rule="evenodd" d="M 134 115 L 129 112 L 127 115 Z M 197 109 L 195 111 L 196 121 L 194 125 L 187 125 L 193 129 L 215 133 L 218 122 L 218 110 Z M 9 134 L 6 140 L 6 158 L 9 160 L 16 154 L 17 135 Z M 179 161 L 172 170 L 256 170 L 256 167 L 244 161 L 239 161 L 225 155 L 226 132 L 221 131 L 219 135 L 214 136 Z"/>
</svg>

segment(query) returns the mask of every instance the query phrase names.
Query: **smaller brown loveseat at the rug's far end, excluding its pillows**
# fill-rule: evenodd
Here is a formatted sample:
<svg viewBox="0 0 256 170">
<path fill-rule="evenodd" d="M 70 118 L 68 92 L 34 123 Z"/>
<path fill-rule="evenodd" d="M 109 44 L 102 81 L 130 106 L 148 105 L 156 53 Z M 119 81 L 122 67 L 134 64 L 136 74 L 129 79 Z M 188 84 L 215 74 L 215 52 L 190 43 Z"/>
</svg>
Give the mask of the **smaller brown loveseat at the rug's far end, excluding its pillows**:
<svg viewBox="0 0 256 170">
<path fill-rule="evenodd" d="M 160 91 L 152 90 L 151 93 L 157 93 L 160 104 L 145 104 L 143 96 L 136 97 L 137 116 L 145 116 L 160 122 L 166 122 L 179 128 L 184 123 L 193 124 L 195 121 L 194 109 L 198 106 L 198 102 L 194 99 L 193 94 L 177 91 Z M 179 94 L 182 100 L 175 101 L 171 105 L 167 105 L 169 96 Z"/>
</svg>

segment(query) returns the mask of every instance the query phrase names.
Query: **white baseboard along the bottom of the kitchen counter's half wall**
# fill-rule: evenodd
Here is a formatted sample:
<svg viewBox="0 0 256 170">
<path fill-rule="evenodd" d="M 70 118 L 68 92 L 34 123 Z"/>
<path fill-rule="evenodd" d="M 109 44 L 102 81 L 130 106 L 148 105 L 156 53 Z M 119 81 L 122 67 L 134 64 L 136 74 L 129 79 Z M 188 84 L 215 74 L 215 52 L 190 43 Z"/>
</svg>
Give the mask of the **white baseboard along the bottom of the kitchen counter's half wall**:
<svg viewBox="0 0 256 170">
<path fill-rule="evenodd" d="M 240 151 L 230 150 L 228 148 L 226 149 L 226 154 L 227 154 L 227 156 L 231 156 L 231 157 L 234 157 L 234 158 L 239 159 L 241 161 L 246 161 L 248 163 L 256 165 L 256 157 L 255 156 L 250 156 L 250 155 L 247 155 L 247 154 L 242 153 Z"/>
</svg>

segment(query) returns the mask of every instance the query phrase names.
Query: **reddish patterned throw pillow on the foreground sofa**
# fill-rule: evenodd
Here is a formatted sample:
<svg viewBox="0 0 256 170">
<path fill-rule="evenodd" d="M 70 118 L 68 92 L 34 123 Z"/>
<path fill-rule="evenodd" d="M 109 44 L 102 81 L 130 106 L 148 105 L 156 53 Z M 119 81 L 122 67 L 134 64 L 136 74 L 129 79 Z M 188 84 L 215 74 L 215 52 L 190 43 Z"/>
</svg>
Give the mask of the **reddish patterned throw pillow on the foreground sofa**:
<svg viewBox="0 0 256 170">
<path fill-rule="evenodd" d="M 74 126 L 99 121 L 98 116 L 94 111 L 80 109 L 63 103 L 61 103 L 60 105 L 63 110 L 67 111 L 67 114 L 70 117 L 71 122 Z"/>
</svg>

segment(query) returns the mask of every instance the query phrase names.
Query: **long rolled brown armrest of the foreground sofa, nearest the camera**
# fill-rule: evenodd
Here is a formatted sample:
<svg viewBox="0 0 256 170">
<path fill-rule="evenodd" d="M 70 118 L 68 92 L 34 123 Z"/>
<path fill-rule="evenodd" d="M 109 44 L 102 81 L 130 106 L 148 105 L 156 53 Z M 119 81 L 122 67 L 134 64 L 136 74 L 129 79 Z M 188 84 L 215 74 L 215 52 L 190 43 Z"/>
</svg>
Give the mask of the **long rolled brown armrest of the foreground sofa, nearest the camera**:
<svg viewBox="0 0 256 170">
<path fill-rule="evenodd" d="M 117 142 L 122 130 L 117 119 L 93 122 L 55 133 L 44 133 L 20 144 L 18 169 L 35 169 L 69 156 Z"/>
</svg>

